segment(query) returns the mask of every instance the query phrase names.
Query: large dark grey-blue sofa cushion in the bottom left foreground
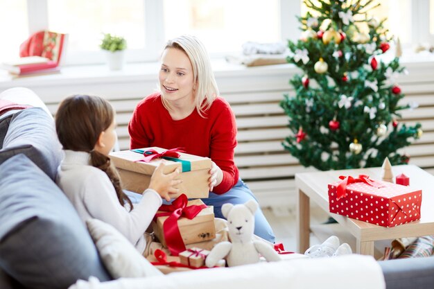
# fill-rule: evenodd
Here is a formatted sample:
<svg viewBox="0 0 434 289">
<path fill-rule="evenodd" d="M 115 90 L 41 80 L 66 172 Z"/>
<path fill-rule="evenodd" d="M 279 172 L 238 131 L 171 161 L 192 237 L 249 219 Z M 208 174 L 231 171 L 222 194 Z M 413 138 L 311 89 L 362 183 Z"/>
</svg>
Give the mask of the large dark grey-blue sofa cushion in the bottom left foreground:
<svg viewBox="0 0 434 289">
<path fill-rule="evenodd" d="M 92 238 L 58 186 L 25 155 L 0 165 L 0 268 L 28 288 L 109 280 Z"/>
</svg>

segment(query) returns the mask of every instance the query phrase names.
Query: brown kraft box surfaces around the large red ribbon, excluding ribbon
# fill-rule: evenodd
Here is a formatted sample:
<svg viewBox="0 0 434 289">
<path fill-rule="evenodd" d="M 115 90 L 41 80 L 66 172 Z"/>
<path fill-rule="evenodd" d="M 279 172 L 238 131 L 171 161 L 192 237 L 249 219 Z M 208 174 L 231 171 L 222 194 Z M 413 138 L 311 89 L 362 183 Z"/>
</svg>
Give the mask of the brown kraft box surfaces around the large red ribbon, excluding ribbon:
<svg viewBox="0 0 434 289">
<path fill-rule="evenodd" d="M 202 200 L 191 200 L 187 203 L 187 207 L 201 204 L 204 204 Z M 162 213 L 162 211 L 157 211 L 157 214 L 158 213 Z M 153 221 L 154 234 L 164 247 L 167 247 L 167 245 L 166 240 L 164 239 L 163 225 L 167 218 L 168 216 L 162 216 Z M 202 211 L 191 220 L 185 217 L 179 218 L 177 220 L 177 225 L 180 229 L 181 237 L 185 245 L 216 238 L 214 208 L 212 206 L 202 209 Z"/>
</svg>

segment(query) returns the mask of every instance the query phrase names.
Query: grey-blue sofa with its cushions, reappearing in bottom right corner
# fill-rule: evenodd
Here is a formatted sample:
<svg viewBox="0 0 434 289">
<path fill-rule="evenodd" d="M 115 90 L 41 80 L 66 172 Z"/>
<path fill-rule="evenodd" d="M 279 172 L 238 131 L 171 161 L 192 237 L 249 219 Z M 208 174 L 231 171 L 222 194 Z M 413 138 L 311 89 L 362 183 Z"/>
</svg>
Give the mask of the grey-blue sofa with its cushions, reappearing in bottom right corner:
<svg viewBox="0 0 434 289">
<path fill-rule="evenodd" d="M 85 226 L 53 182 L 61 157 L 45 110 L 0 116 L 1 289 L 68 288 L 91 276 L 111 279 Z M 434 288 L 434 257 L 379 265 L 387 289 Z"/>
</svg>

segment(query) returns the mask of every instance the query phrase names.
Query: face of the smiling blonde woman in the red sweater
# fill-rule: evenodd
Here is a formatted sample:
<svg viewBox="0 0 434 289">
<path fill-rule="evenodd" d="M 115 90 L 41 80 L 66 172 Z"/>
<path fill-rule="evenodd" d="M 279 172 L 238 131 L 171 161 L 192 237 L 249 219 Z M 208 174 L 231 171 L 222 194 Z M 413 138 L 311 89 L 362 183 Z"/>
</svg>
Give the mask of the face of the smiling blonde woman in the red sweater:
<svg viewBox="0 0 434 289">
<path fill-rule="evenodd" d="M 180 49 L 168 48 L 162 54 L 159 87 L 168 101 L 194 100 L 196 83 L 188 56 Z"/>
</svg>

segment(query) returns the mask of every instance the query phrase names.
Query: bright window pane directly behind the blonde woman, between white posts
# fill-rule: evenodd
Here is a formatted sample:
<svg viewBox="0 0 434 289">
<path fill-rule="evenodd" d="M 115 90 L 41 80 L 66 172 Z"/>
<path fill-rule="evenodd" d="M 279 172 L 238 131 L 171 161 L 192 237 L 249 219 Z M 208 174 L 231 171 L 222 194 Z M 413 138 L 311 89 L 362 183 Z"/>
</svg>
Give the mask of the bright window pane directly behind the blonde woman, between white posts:
<svg viewBox="0 0 434 289">
<path fill-rule="evenodd" d="M 196 35 L 209 53 L 240 51 L 248 41 L 279 42 L 279 2 L 164 0 L 164 35 Z"/>
</svg>

